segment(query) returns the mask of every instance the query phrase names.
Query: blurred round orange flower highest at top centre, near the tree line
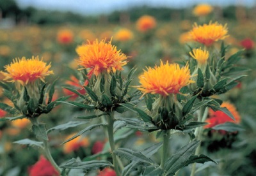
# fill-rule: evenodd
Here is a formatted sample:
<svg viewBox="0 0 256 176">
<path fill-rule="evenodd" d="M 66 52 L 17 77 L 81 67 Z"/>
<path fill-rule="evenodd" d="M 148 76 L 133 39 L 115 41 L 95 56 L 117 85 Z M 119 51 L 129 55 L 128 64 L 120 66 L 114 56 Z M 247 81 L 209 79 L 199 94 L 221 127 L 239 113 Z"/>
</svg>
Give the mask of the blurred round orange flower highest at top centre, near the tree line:
<svg viewBox="0 0 256 176">
<path fill-rule="evenodd" d="M 143 15 L 136 22 L 138 31 L 147 32 L 156 27 L 156 19 L 150 15 Z"/>
</svg>

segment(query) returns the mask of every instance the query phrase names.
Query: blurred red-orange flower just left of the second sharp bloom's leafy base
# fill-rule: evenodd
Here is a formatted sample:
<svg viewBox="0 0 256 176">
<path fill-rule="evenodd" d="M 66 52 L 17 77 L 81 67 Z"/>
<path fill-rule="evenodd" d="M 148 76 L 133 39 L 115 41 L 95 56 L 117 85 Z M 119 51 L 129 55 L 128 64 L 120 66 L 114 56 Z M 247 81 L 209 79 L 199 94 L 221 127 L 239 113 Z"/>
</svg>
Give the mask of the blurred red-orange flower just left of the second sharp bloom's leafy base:
<svg viewBox="0 0 256 176">
<path fill-rule="evenodd" d="M 85 92 L 86 92 L 83 85 L 79 84 L 79 80 L 76 77 L 74 77 L 73 75 L 70 77 L 70 80 L 67 80 L 65 82 L 65 84 L 71 85 L 80 94 L 85 94 Z M 72 96 L 71 99 L 76 99 L 78 97 L 77 94 L 75 94 L 74 92 L 69 91 L 68 89 L 63 89 L 63 93 L 66 96 Z"/>
</svg>

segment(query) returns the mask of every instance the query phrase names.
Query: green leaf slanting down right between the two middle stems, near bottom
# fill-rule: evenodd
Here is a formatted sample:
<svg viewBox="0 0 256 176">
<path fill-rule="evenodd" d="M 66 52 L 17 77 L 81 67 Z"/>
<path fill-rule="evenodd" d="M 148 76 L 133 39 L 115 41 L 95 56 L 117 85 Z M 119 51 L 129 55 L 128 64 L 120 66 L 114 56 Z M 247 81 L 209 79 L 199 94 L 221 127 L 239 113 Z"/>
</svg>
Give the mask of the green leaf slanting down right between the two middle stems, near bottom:
<svg viewBox="0 0 256 176">
<path fill-rule="evenodd" d="M 148 163 L 150 165 L 154 165 L 154 161 L 152 159 L 147 158 L 147 156 L 141 154 L 141 152 L 136 152 L 131 149 L 119 148 L 113 151 L 116 155 L 120 157 L 127 158 L 131 161 L 138 161 L 143 163 Z"/>
</svg>

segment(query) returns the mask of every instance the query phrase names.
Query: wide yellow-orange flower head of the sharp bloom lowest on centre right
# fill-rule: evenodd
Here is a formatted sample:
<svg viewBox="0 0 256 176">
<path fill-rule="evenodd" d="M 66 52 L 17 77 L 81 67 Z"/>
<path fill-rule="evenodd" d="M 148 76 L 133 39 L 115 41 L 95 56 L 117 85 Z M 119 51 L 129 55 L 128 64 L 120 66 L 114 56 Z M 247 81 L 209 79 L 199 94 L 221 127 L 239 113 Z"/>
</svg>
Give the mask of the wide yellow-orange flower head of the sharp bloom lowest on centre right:
<svg viewBox="0 0 256 176">
<path fill-rule="evenodd" d="M 169 94 L 177 94 L 180 89 L 191 82 L 191 77 L 188 65 L 180 68 L 179 64 L 163 64 L 155 68 L 148 68 L 140 75 L 140 86 L 138 89 L 143 94 L 161 94 L 161 96 L 168 96 Z"/>
</svg>

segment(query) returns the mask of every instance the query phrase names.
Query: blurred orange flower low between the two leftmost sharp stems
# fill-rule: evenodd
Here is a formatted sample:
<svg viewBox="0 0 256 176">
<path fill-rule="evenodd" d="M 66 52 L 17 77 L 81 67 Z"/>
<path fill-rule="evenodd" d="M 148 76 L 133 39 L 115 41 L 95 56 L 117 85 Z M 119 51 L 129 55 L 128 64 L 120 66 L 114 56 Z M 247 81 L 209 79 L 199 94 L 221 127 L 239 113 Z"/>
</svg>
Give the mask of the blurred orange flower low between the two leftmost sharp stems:
<svg viewBox="0 0 256 176">
<path fill-rule="evenodd" d="M 68 135 L 65 140 L 68 140 L 74 135 L 75 134 Z M 89 144 L 89 139 L 87 137 L 78 136 L 77 138 L 74 138 L 73 140 L 70 140 L 69 142 L 63 144 L 63 152 L 69 154 L 70 152 L 78 150 L 80 147 L 88 147 Z"/>
</svg>

